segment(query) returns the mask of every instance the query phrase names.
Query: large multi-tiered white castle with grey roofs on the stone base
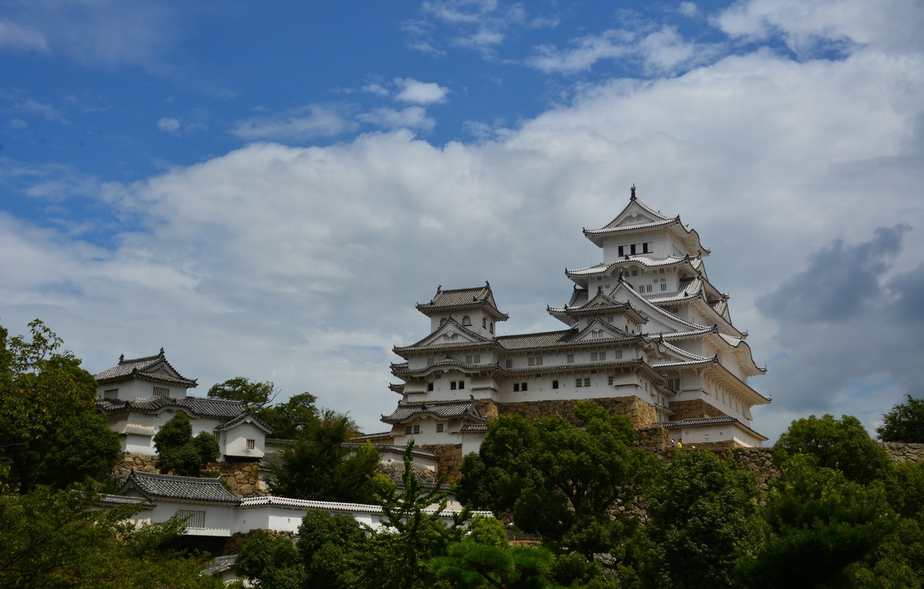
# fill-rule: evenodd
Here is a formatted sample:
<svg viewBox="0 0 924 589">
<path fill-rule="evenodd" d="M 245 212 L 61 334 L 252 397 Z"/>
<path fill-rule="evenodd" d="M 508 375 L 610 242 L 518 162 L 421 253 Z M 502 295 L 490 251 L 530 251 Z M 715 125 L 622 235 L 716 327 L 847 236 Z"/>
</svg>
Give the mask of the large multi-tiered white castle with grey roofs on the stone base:
<svg viewBox="0 0 924 589">
<path fill-rule="evenodd" d="M 402 382 L 392 428 L 368 439 L 455 454 L 477 451 L 497 415 L 568 415 L 580 400 L 627 415 L 635 427 L 663 427 L 686 444 L 759 447 L 751 408 L 770 399 L 748 385 L 762 375 L 732 323 L 728 294 L 709 280 L 710 250 L 680 216 L 667 217 L 636 196 L 584 235 L 602 262 L 566 269 L 564 305 L 547 307 L 560 331 L 496 335 L 508 316 L 490 283 L 438 287 L 418 310 L 430 319 L 419 342 L 394 348 Z"/>
</svg>

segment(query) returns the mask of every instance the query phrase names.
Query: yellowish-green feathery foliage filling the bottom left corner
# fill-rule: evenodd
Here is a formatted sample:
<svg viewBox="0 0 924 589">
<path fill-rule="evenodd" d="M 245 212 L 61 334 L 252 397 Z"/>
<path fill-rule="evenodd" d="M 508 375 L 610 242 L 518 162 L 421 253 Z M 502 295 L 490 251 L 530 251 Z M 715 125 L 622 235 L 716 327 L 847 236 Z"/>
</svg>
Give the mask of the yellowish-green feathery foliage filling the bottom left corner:
<svg viewBox="0 0 924 589">
<path fill-rule="evenodd" d="M 201 576 L 206 557 L 164 546 L 182 530 L 174 518 L 135 529 L 140 506 L 95 510 L 97 487 L 82 484 L 0 497 L 0 589 L 221 587 Z"/>
</svg>

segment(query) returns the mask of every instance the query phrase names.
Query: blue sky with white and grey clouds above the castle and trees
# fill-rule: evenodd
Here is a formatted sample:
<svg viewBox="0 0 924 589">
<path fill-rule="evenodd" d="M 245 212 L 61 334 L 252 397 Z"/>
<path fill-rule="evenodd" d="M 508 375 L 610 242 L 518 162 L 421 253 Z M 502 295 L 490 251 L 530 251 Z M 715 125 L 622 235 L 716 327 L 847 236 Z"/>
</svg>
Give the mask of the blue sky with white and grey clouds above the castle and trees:
<svg viewBox="0 0 924 589">
<path fill-rule="evenodd" d="M 629 187 L 711 248 L 753 427 L 924 395 L 924 3 L 0 0 L 0 325 L 366 432 L 437 286 L 550 331 Z"/>
</svg>

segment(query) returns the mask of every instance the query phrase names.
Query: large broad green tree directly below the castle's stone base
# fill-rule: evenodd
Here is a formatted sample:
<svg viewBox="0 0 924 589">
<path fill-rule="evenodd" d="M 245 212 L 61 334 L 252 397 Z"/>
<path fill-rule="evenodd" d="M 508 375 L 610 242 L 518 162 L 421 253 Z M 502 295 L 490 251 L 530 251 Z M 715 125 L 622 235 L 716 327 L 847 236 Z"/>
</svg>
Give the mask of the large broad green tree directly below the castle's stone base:
<svg viewBox="0 0 924 589">
<path fill-rule="evenodd" d="M 577 403 L 574 415 L 583 428 L 560 417 L 529 422 L 511 415 L 489 423 L 478 456 L 463 464 L 458 498 L 511 512 L 524 531 L 590 558 L 631 534 L 634 519 L 607 511 L 635 499 L 657 463 L 633 447 L 636 431 L 626 417 L 590 402 Z"/>
</svg>

